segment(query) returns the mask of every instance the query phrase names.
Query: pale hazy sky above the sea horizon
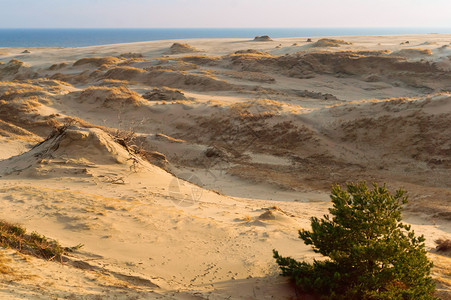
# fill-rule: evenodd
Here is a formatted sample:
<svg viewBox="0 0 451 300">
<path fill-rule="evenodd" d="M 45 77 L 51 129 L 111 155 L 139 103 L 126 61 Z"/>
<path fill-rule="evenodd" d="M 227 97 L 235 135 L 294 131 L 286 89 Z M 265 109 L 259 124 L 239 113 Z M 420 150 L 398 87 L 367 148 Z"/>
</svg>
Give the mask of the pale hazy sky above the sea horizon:
<svg viewBox="0 0 451 300">
<path fill-rule="evenodd" d="M 0 0 L 8 27 L 451 27 L 451 0 Z"/>
</svg>

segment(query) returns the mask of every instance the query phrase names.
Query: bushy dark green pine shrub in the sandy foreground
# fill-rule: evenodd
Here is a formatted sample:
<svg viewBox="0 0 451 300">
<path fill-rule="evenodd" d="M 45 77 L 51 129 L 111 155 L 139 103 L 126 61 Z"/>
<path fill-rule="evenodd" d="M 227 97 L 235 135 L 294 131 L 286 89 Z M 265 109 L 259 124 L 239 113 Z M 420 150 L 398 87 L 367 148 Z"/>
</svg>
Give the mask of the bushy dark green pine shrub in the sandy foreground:
<svg viewBox="0 0 451 300">
<path fill-rule="evenodd" d="M 392 195 L 385 185 L 373 187 L 334 186 L 333 217 L 313 217 L 312 231 L 299 231 L 305 244 L 329 259 L 308 264 L 274 250 L 282 275 L 324 299 L 434 299 L 424 237 L 401 222 L 405 191 Z"/>
</svg>

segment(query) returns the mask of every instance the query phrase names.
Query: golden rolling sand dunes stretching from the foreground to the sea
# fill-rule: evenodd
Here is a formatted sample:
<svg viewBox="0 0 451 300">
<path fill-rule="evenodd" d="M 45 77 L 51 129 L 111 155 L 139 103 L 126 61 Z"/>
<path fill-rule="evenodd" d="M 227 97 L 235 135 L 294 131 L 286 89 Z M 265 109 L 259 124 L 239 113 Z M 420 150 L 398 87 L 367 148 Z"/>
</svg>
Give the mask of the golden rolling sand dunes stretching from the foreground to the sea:
<svg viewBox="0 0 451 300">
<path fill-rule="evenodd" d="M 306 40 L 1 48 L 0 219 L 84 246 L 0 249 L 0 298 L 302 299 L 272 249 L 318 257 L 355 180 L 409 192 L 451 297 L 451 35 Z"/>
</svg>

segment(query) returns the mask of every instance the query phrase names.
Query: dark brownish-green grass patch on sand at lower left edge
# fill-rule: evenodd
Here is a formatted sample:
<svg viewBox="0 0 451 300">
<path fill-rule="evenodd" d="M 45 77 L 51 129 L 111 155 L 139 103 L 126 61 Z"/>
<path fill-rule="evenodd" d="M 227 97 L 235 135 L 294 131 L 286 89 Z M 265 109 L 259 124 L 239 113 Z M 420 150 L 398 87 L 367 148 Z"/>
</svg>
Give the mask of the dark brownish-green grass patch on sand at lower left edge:
<svg viewBox="0 0 451 300">
<path fill-rule="evenodd" d="M 0 221 L 0 245 L 4 248 L 16 249 L 24 254 L 61 262 L 63 255 L 82 247 L 82 245 L 72 248 L 62 247 L 58 241 L 37 232 L 27 234 L 22 226 L 5 221 Z"/>
</svg>

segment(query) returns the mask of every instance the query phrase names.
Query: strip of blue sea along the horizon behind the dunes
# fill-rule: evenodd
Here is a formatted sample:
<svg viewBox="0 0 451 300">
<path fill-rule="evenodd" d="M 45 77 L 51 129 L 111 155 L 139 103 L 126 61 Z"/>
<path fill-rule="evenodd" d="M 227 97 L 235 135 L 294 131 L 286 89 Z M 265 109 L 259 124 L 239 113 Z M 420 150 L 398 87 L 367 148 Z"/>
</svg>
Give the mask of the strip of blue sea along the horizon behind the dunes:
<svg viewBox="0 0 451 300">
<path fill-rule="evenodd" d="M 191 38 L 272 38 L 451 33 L 451 28 L 0 29 L 0 47 L 84 47 Z"/>
</svg>

